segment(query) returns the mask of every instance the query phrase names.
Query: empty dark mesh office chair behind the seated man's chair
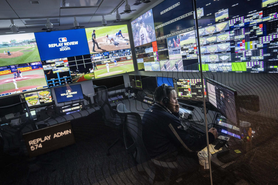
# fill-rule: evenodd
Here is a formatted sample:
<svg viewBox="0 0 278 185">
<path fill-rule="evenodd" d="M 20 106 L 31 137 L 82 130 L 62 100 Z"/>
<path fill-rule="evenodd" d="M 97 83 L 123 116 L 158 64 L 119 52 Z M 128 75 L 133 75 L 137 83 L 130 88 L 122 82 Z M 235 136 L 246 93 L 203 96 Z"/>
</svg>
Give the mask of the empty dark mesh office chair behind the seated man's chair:
<svg viewBox="0 0 278 185">
<path fill-rule="evenodd" d="M 96 97 L 96 103 L 100 107 L 100 112 L 103 114 L 103 120 L 106 126 L 117 129 L 120 134 L 122 134 L 122 116 L 114 110 L 109 101 L 108 101 L 108 91 L 106 86 L 95 86 L 93 85 Z M 118 141 L 123 140 L 122 137 L 116 139 L 112 145 L 107 149 L 106 155 L 109 156 L 109 150 L 116 144 Z"/>
</svg>

